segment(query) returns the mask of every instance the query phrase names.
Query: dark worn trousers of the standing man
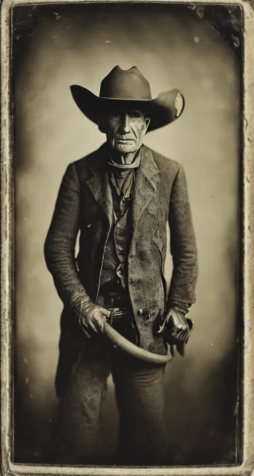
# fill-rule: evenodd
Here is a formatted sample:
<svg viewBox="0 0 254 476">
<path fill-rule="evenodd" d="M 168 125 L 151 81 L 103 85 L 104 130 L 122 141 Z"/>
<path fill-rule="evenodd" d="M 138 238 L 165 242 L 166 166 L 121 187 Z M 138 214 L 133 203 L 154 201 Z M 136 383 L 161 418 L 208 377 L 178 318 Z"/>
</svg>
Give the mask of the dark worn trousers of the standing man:
<svg viewBox="0 0 254 476">
<path fill-rule="evenodd" d="M 114 327 L 130 341 L 128 323 Z M 101 406 L 112 373 L 119 410 L 114 464 L 161 466 L 168 452 L 164 421 L 165 366 L 152 365 L 114 348 L 105 335 L 92 337 L 59 403 L 54 463 L 98 465 Z"/>
</svg>

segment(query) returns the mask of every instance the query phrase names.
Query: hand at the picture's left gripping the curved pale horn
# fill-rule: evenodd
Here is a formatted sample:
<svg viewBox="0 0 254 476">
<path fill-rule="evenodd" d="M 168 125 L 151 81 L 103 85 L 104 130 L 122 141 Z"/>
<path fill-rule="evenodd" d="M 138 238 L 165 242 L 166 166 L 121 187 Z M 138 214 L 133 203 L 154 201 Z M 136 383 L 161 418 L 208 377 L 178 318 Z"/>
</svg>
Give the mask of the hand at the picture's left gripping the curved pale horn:
<svg viewBox="0 0 254 476">
<path fill-rule="evenodd" d="M 92 329 L 96 334 L 103 334 L 107 317 L 110 317 L 108 309 L 89 301 L 82 308 L 79 323 L 88 332 Z"/>
</svg>

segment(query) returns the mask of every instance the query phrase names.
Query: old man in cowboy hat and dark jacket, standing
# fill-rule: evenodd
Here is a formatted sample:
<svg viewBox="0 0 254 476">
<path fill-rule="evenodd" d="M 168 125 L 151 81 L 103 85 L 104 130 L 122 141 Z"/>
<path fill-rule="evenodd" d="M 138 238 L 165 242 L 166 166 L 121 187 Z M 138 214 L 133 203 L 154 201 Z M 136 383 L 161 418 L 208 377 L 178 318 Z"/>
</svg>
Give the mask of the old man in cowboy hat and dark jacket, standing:
<svg viewBox="0 0 254 476">
<path fill-rule="evenodd" d="M 166 335 L 179 344 L 188 339 L 197 253 L 185 173 L 142 144 L 146 132 L 182 114 L 184 99 L 177 89 L 152 99 L 135 66 L 113 68 L 99 97 L 81 86 L 71 86 L 71 93 L 107 141 L 67 167 L 45 242 L 64 303 L 55 461 L 98 464 L 101 405 L 112 373 L 120 417 L 116 463 L 163 465 L 165 365 L 113 346 L 104 327 L 110 321 L 129 342 L 157 355 L 167 354 Z M 167 222 L 173 257 L 168 295 Z"/>
</svg>

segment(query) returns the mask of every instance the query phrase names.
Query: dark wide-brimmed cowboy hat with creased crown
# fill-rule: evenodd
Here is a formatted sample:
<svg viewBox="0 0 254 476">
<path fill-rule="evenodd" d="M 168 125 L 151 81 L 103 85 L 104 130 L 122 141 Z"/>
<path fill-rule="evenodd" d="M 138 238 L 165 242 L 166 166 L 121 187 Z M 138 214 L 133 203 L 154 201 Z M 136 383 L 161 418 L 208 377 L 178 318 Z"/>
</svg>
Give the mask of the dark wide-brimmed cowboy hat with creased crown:
<svg viewBox="0 0 254 476">
<path fill-rule="evenodd" d="M 141 111 L 150 119 L 148 132 L 179 118 L 185 106 L 178 89 L 170 89 L 152 99 L 150 84 L 136 66 L 127 70 L 115 66 L 102 80 L 99 96 L 78 85 L 70 86 L 70 90 L 82 113 L 102 132 L 106 132 L 100 122 L 102 113 L 127 109 Z"/>
</svg>

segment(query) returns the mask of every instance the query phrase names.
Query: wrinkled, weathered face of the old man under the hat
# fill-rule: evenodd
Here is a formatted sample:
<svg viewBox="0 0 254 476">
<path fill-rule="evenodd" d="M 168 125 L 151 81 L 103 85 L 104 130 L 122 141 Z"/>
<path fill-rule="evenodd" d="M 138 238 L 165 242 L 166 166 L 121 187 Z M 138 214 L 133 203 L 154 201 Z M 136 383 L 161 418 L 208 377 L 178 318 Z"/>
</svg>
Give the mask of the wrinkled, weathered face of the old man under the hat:
<svg viewBox="0 0 254 476">
<path fill-rule="evenodd" d="M 118 111 L 107 119 L 107 141 L 119 153 L 135 152 L 142 145 L 150 119 L 140 111 Z"/>
</svg>

